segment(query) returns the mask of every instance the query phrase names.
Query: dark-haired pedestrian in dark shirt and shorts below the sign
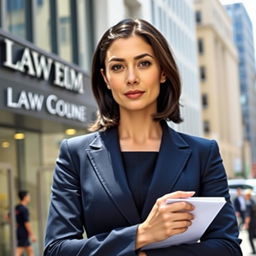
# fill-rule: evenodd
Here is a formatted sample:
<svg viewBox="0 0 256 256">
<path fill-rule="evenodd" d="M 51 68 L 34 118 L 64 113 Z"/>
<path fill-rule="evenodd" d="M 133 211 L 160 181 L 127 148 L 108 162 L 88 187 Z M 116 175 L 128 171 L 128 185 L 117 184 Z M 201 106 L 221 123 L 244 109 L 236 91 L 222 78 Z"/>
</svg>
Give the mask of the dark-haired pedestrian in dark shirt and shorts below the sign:
<svg viewBox="0 0 256 256">
<path fill-rule="evenodd" d="M 22 256 L 26 251 L 28 256 L 34 256 L 33 248 L 30 244 L 36 241 L 35 235 L 29 222 L 29 210 L 27 208 L 30 203 L 30 195 L 28 191 L 22 190 L 18 193 L 20 202 L 15 207 L 16 223 L 17 223 L 17 248 L 16 256 Z"/>
</svg>

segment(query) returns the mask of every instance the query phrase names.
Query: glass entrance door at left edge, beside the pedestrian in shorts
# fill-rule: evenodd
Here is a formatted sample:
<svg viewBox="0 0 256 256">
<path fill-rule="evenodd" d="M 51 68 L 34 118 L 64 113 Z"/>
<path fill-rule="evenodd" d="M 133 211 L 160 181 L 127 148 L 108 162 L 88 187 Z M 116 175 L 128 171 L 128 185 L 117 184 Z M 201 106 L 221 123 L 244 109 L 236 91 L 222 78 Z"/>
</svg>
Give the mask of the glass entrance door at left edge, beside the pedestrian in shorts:
<svg viewBox="0 0 256 256">
<path fill-rule="evenodd" d="M 14 177 L 8 164 L 0 163 L 0 255 L 15 255 L 16 227 Z"/>
</svg>

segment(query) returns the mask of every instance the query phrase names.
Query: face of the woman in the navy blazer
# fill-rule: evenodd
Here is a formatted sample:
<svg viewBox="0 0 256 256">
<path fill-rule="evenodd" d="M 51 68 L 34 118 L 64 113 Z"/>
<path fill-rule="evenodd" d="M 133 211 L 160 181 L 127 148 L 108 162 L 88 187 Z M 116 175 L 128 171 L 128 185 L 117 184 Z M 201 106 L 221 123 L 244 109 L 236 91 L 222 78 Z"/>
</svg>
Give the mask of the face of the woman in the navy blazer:
<svg viewBox="0 0 256 256">
<path fill-rule="evenodd" d="M 157 110 L 160 70 L 152 47 L 140 36 L 115 40 L 106 52 L 102 75 L 122 111 Z"/>
</svg>

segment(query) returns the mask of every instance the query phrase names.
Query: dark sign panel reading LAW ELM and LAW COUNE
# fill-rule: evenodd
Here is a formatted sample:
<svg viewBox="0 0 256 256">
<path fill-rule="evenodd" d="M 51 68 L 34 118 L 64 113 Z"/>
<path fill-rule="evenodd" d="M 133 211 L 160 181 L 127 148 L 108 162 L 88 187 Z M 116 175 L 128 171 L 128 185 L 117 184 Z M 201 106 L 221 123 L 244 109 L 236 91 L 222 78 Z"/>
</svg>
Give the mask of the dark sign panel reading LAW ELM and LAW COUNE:
<svg viewBox="0 0 256 256">
<path fill-rule="evenodd" d="M 0 29 L 0 112 L 84 128 L 97 110 L 90 87 L 80 67 Z"/>
</svg>

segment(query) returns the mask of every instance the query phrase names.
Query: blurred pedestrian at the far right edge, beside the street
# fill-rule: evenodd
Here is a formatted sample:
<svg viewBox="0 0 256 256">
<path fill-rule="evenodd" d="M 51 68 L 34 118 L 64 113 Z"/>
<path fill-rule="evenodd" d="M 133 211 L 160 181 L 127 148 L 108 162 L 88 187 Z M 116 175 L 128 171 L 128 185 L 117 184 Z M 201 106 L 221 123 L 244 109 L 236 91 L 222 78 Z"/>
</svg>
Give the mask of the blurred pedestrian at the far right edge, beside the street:
<svg viewBox="0 0 256 256">
<path fill-rule="evenodd" d="M 246 214 L 245 214 L 245 229 L 248 231 L 248 238 L 252 248 L 252 254 L 256 254 L 253 239 L 256 234 L 256 204 L 252 199 L 252 191 L 250 189 L 245 191 L 246 200 Z"/>
</svg>

